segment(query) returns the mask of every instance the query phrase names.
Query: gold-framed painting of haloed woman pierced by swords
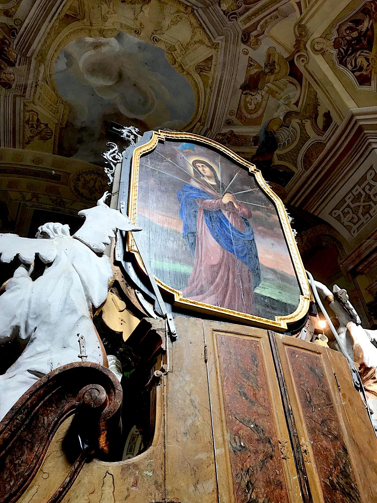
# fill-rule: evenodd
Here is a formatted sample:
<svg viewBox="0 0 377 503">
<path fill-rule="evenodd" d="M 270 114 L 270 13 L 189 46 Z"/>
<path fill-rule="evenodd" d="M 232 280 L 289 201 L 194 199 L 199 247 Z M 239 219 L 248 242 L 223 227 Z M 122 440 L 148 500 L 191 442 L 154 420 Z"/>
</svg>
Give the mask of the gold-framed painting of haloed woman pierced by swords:
<svg viewBox="0 0 377 503">
<path fill-rule="evenodd" d="M 277 329 L 306 313 L 284 206 L 255 166 L 212 140 L 159 131 L 137 147 L 129 215 L 175 305 Z"/>
</svg>

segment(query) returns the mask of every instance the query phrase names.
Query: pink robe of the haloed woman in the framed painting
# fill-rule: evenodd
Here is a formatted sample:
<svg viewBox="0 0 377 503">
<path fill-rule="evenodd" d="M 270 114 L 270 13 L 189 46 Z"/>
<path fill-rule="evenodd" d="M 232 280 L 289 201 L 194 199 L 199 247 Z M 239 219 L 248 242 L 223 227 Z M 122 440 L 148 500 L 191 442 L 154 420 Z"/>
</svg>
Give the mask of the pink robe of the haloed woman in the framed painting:
<svg viewBox="0 0 377 503">
<path fill-rule="evenodd" d="M 216 199 L 197 199 L 199 211 L 195 262 L 182 294 L 185 298 L 197 302 L 255 314 L 251 271 L 212 237 L 203 210 L 221 210 L 230 223 L 241 231 L 245 230 L 241 216 L 251 218 L 252 213 L 242 203 L 237 203 L 238 209 L 233 203 L 224 204 L 216 192 L 205 188 L 194 179 L 190 183 Z"/>
</svg>

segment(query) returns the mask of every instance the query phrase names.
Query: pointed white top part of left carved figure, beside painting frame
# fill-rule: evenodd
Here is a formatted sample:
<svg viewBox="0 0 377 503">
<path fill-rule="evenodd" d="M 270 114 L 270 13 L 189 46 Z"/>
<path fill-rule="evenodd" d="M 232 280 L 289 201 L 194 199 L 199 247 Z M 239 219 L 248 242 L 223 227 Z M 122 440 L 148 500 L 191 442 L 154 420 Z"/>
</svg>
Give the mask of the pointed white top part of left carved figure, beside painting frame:
<svg viewBox="0 0 377 503">
<path fill-rule="evenodd" d="M 96 253 L 105 251 L 106 245 L 110 244 L 110 238 L 115 236 L 116 229 L 141 230 L 136 228 L 126 215 L 109 208 L 105 203 L 81 210 L 77 214 L 85 217 L 85 222 L 73 237 L 87 244 Z"/>
</svg>

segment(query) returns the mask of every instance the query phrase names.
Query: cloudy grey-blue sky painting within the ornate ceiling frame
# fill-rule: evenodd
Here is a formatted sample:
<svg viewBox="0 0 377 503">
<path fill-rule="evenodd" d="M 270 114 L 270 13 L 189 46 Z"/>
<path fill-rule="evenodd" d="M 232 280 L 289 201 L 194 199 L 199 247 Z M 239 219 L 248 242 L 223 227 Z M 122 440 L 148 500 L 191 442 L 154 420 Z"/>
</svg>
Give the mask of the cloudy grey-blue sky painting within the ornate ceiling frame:
<svg viewBox="0 0 377 503">
<path fill-rule="evenodd" d="M 101 163 L 111 120 L 142 131 L 181 129 L 195 109 L 189 81 L 164 51 L 121 32 L 70 42 L 57 58 L 55 81 L 69 105 L 59 153 L 90 162 Z"/>
</svg>

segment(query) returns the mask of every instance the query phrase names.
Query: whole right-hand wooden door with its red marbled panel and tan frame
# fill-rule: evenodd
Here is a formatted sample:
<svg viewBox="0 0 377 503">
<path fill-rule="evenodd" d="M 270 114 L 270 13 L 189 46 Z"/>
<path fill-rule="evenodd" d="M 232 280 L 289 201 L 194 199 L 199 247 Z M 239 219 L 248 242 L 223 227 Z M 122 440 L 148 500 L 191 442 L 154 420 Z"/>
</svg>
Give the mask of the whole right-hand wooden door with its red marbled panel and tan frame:
<svg viewBox="0 0 377 503">
<path fill-rule="evenodd" d="M 305 341 L 275 340 L 314 503 L 377 501 L 377 441 L 346 360 Z"/>
</svg>

